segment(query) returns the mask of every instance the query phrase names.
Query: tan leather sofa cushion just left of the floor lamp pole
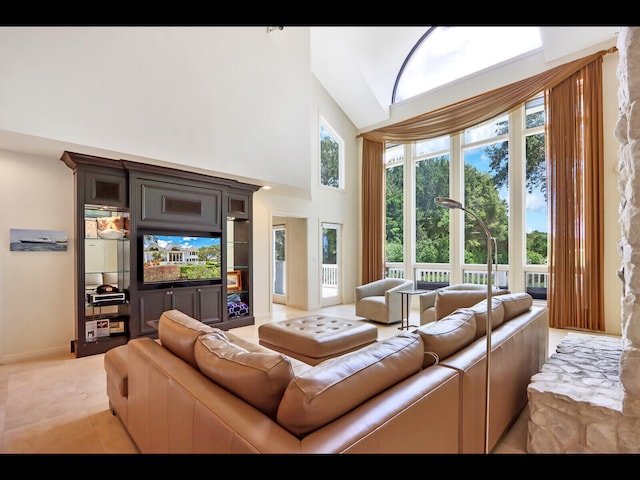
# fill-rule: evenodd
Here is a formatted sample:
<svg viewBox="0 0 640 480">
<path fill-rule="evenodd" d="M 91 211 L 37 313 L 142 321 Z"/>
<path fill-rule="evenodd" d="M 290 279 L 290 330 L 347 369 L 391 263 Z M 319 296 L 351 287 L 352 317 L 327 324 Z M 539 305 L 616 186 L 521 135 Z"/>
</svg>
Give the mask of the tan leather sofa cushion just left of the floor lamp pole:
<svg viewBox="0 0 640 480">
<path fill-rule="evenodd" d="M 422 325 L 417 333 L 424 343 L 422 367 L 426 368 L 436 363 L 436 356 L 442 360 L 473 342 L 476 317 L 472 310 L 460 308 L 440 321 Z"/>
</svg>

